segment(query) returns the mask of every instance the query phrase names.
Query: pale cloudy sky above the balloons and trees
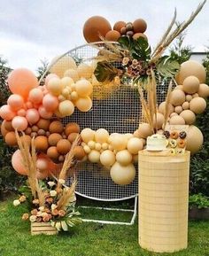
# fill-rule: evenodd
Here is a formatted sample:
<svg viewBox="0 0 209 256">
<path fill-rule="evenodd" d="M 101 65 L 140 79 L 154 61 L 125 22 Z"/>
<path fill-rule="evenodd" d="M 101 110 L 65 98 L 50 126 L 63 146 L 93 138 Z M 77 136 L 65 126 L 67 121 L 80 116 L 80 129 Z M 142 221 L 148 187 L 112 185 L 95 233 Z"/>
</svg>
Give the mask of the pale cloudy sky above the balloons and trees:
<svg viewBox="0 0 209 256">
<path fill-rule="evenodd" d="M 33 71 L 40 60 L 52 58 L 86 43 L 82 27 L 89 17 L 145 19 L 151 46 L 158 43 L 177 9 L 177 20 L 188 19 L 203 0 L 0 0 L 0 55 L 12 68 Z M 195 51 L 209 46 L 209 2 L 187 29 L 184 41 Z"/>
</svg>

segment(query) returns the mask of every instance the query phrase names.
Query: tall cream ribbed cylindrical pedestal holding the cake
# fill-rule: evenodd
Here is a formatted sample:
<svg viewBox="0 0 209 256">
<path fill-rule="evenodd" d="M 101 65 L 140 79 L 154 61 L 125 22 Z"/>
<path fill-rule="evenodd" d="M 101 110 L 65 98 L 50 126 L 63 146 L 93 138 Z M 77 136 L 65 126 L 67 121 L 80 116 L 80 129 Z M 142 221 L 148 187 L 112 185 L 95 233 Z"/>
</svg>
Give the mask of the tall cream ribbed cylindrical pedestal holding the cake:
<svg viewBox="0 0 209 256">
<path fill-rule="evenodd" d="M 139 244 L 151 252 L 187 248 L 190 152 L 139 152 Z"/>
</svg>

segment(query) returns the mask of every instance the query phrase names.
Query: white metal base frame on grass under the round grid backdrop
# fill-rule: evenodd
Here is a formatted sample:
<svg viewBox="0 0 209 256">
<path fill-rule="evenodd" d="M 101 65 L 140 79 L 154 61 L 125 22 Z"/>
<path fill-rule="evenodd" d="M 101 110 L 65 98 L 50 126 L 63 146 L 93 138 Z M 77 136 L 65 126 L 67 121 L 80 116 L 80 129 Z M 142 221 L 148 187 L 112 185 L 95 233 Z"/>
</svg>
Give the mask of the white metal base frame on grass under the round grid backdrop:
<svg viewBox="0 0 209 256">
<path fill-rule="evenodd" d="M 79 206 L 80 208 L 94 208 L 94 209 L 99 209 L 99 210 L 106 210 L 106 211 L 118 211 L 118 212 L 130 212 L 133 213 L 131 221 L 130 222 L 123 222 L 123 221 L 101 221 L 101 220 L 90 220 L 90 219 L 82 219 L 84 222 L 96 222 L 96 223 L 101 223 L 101 224 L 118 224 L 118 225 L 133 225 L 135 223 L 135 217 L 137 213 L 137 198 L 138 196 L 135 195 L 135 206 L 134 209 L 120 209 L 120 208 L 108 208 L 108 207 L 97 207 L 97 206 Z"/>
</svg>

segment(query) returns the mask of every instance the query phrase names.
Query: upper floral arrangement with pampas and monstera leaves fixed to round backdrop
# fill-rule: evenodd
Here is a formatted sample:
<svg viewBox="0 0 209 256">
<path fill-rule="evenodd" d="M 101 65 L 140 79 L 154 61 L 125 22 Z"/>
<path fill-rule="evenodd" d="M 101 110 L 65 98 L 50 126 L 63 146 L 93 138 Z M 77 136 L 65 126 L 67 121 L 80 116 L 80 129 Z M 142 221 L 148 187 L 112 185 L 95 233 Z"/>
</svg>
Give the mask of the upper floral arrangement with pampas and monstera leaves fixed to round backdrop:
<svg viewBox="0 0 209 256">
<path fill-rule="evenodd" d="M 170 81 L 164 113 L 163 128 L 165 128 L 169 117 L 168 106 L 172 85 L 176 84 L 174 77 L 180 68 L 180 63 L 171 56 L 163 54 L 174 39 L 196 18 L 205 2 L 206 0 L 198 4 L 197 10 L 191 13 L 190 18 L 181 23 L 176 22 L 177 12 L 175 10 L 173 19 L 154 50 L 151 50 L 151 46 L 144 37 L 134 40 L 131 36 L 122 35 L 118 43 L 109 43 L 101 38 L 105 47 L 103 49 L 98 47 L 95 69 L 97 81 L 105 83 L 118 78 L 122 83 L 137 87 L 143 108 L 143 120 L 149 123 L 153 133 L 158 130 L 157 84 L 162 80 Z M 144 97 L 144 91 L 146 97 Z"/>
</svg>

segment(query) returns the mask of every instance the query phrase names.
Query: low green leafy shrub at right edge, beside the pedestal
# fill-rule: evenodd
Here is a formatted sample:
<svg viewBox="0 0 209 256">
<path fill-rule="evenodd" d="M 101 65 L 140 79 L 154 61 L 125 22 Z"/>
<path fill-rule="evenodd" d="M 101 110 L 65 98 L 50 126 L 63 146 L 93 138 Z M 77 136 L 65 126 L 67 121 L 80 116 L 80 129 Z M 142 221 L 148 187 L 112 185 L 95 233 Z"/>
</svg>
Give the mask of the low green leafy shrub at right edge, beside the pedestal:
<svg viewBox="0 0 209 256">
<path fill-rule="evenodd" d="M 191 220 L 209 220 L 209 198 L 202 193 L 194 194 L 189 199 L 189 218 Z"/>
</svg>

